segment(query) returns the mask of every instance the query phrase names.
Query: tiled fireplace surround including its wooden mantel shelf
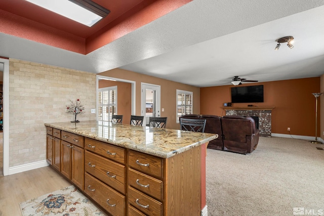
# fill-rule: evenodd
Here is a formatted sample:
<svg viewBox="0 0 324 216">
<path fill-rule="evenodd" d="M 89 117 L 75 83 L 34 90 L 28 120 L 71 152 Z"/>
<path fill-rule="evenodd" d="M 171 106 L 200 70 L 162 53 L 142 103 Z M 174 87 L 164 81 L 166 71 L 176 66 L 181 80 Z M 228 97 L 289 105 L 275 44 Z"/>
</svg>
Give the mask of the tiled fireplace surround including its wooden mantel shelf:
<svg viewBox="0 0 324 216">
<path fill-rule="evenodd" d="M 271 110 L 274 107 L 226 107 L 226 115 L 258 116 L 261 137 L 271 137 Z"/>
</svg>

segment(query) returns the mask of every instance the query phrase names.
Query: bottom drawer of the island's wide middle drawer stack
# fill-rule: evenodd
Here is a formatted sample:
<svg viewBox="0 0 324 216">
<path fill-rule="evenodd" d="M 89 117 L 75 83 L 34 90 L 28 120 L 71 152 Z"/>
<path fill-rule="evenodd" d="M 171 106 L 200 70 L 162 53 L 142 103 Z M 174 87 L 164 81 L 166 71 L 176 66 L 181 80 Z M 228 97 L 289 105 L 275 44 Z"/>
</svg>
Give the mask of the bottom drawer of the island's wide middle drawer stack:
<svg viewBox="0 0 324 216">
<path fill-rule="evenodd" d="M 112 215 L 125 215 L 125 196 L 119 194 L 87 173 L 85 173 L 85 193 Z"/>
</svg>

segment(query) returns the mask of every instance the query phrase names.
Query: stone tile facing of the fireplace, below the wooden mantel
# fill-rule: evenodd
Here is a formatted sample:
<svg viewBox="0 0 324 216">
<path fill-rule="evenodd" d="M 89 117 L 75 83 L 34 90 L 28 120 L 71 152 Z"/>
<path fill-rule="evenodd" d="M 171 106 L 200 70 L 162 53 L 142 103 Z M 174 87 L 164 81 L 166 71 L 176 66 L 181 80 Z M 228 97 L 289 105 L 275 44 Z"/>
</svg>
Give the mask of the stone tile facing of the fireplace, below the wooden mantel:
<svg viewBox="0 0 324 216">
<path fill-rule="evenodd" d="M 261 137 L 271 137 L 271 110 L 226 110 L 226 115 L 258 116 Z"/>
</svg>

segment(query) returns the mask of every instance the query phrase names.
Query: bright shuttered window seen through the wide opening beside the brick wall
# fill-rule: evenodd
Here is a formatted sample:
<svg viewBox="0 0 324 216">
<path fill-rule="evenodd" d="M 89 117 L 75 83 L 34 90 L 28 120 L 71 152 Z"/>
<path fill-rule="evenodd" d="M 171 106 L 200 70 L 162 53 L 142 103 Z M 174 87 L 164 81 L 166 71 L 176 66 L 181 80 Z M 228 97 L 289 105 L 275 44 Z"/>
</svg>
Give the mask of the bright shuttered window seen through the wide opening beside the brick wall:
<svg viewBox="0 0 324 216">
<path fill-rule="evenodd" d="M 117 86 L 99 89 L 98 93 L 98 121 L 107 125 L 111 115 L 117 114 Z"/>
</svg>

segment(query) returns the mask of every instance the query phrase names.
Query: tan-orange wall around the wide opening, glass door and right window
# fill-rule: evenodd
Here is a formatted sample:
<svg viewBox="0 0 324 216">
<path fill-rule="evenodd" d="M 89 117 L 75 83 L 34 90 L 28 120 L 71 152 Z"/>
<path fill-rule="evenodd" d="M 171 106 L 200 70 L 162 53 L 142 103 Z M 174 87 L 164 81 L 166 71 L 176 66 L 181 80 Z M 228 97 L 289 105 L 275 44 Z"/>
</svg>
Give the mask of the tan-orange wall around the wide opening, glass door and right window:
<svg viewBox="0 0 324 216">
<path fill-rule="evenodd" d="M 115 77 L 119 79 L 132 80 L 136 82 L 136 115 L 141 115 L 141 82 L 160 85 L 161 87 L 161 109 L 164 108 L 164 112 L 161 112 L 161 117 L 168 117 L 167 128 L 179 129 L 179 123 L 176 123 L 176 101 L 177 101 L 177 89 L 190 91 L 193 93 L 193 112 L 200 113 L 200 89 L 198 87 L 192 87 L 191 85 L 182 84 L 179 82 L 170 81 L 167 79 L 161 79 L 154 76 L 148 76 L 133 71 L 124 70 L 120 68 L 108 70 L 98 75 Z M 119 100 L 118 100 L 119 101 Z M 119 108 L 118 108 L 119 109 Z M 119 110 L 118 110 L 119 113 Z M 124 122 L 124 120 L 123 120 Z M 126 122 L 126 121 L 125 121 Z"/>
</svg>

